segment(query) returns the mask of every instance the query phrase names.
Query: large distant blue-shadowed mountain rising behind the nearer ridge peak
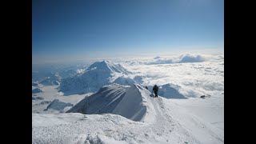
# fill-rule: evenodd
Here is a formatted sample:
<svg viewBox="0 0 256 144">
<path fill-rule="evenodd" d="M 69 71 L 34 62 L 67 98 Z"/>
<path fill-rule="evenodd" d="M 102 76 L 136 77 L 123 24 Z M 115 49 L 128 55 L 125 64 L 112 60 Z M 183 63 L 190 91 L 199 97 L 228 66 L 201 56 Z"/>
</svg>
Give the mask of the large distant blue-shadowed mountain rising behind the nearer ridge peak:
<svg viewBox="0 0 256 144">
<path fill-rule="evenodd" d="M 122 75 L 130 72 L 110 61 L 94 62 L 84 73 L 63 79 L 59 91 L 64 95 L 94 93 L 102 86 L 110 84 L 110 78 L 114 77 L 114 74 Z"/>
</svg>

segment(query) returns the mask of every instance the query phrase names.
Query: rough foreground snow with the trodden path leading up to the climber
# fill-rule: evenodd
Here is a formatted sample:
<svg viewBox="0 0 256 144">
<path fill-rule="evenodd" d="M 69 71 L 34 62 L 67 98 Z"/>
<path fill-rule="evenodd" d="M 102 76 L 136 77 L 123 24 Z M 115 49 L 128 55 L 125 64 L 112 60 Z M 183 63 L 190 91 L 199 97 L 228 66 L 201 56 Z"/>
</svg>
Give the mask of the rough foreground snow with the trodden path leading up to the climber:
<svg viewBox="0 0 256 144">
<path fill-rule="evenodd" d="M 134 122 L 114 114 L 32 114 L 32 141 L 33 143 L 200 143 L 162 110 L 164 107 L 161 98 L 151 98 L 148 95 L 147 97 L 155 111 L 154 121 L 151 122 Z"/>
</svg>

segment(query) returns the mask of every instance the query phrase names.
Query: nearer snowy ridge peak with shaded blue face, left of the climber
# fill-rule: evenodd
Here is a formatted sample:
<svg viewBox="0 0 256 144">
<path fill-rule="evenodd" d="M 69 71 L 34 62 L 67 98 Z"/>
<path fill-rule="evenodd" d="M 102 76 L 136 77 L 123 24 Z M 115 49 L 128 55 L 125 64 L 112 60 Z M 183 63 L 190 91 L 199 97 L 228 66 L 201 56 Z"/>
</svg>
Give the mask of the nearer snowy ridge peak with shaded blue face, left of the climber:
<svg viewBox="0 0 256 144">
<path fill-rule="evenodd" d="M 119 114 L 134 121 L 153 121 L 155 111 L 150 91 L 138 84 L 103 86 L 67 111 L 82 114 Z"/>
</svg>

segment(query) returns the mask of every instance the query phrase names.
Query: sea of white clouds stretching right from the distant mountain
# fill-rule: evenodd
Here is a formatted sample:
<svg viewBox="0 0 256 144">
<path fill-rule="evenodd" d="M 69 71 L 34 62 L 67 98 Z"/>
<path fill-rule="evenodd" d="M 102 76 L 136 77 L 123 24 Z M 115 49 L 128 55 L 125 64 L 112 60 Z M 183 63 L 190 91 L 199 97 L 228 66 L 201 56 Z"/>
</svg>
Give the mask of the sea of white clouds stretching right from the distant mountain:
<svg viewBox="0 0 256 144">
<path fill-rule="evenodd" d="M 171 61 L 170 61 L 171 60 Z M 182 54 L 171 58 L 147 58 L 123 62 L 141 78 L 144 86 L 174 84 L 186 97 L 203 94 L 218 95 L 224 92 L 224 56 L 210 54 Z"/>
</svg>

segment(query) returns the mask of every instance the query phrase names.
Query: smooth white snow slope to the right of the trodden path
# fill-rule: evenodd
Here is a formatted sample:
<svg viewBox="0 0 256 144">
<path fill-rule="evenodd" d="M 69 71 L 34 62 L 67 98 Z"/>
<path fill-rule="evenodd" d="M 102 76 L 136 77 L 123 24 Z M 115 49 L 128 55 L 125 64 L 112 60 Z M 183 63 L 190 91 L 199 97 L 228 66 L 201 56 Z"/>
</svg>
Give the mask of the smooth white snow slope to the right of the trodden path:
<svg viewBox="0 0 256 144">
<path fill-rule="evenodd" d="M 224 99 L 170 99 L 164 101 L 175 121 L 202 143 L 224 143 Z"/>
</svg>

